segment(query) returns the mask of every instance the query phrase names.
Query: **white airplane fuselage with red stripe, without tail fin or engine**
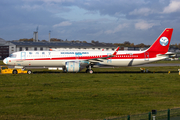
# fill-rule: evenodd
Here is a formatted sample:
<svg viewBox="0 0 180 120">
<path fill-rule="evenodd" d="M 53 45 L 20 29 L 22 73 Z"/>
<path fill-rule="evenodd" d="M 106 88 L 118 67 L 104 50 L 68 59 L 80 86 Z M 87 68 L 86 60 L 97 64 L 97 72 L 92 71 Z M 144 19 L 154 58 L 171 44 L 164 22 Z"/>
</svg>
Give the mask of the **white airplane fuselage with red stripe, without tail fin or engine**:
<svg viewBox="0 0 180 120">
<path fill-rule="evenodd" d="M 21 51 L 13 53 L 4 59 L 4 63 L 13 66 L 43 66 L 64 67 L 68 61 L 80 61 L 85 64 L 98 63 L 100 66 L 133 66 L 162 60 L 166 56 L 149 57 L 145 51 L 118 51 L 114 57 L 103 59 L 112 55 L 114 51 Z"/>
</svg>

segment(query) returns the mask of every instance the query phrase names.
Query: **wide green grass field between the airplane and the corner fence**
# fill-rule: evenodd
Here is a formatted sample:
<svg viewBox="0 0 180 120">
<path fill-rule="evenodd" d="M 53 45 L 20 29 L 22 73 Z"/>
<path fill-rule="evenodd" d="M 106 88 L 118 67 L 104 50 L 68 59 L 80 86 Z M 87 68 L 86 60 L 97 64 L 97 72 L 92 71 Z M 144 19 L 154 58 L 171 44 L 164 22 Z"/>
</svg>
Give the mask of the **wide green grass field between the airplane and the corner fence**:
<svg viewBox="0 0 180 120">
<path fill-rule="evenodd" d="M 1 74 L 0 119 L 104 119 L 180 107 L 178 67 L 148 69 L 156 72 L 123 67 L 95 74 Z"/>
</svg>

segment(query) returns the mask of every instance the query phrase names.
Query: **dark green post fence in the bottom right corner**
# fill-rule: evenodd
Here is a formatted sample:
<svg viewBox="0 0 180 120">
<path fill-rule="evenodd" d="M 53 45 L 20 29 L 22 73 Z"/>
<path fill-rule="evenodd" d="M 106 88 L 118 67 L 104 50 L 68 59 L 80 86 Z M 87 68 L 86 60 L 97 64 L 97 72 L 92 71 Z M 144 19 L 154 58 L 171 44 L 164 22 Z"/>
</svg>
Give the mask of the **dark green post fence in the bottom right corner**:
<svg viewBox="0 0 180 120">
<path fill-rule="evenodd" d="M 154 111 L 138 115 L 128 115 L 124 117 L 108 118 L 104 120 L 180 120 L 180 108 Z"/>
</svg>

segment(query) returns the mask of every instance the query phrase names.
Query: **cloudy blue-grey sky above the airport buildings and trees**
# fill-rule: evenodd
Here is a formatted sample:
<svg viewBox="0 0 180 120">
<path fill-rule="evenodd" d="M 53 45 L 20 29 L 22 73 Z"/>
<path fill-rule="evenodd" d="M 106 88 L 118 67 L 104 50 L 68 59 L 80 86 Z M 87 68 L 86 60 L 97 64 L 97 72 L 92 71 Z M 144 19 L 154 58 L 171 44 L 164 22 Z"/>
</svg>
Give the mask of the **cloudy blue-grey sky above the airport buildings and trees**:
<svg viewBox="0 0 180 120">
<path fill-rule="evenodd" d="M 180 43 L 180 0 L 0 0 L 0 38 L 152 44 L 165 28 Z"/>
</svg>

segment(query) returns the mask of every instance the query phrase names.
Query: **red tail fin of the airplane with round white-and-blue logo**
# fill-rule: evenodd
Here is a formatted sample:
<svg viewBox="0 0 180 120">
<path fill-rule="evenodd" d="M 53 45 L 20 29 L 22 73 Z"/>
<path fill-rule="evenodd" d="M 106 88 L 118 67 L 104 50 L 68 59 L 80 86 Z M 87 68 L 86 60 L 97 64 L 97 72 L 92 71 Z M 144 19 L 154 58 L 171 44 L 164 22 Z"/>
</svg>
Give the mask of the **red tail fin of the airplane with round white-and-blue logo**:
<svg viewBox="0 0 180 120">
<path fill-rule="evenodd" d="M 157 54 L 165 54 L 168 52 L 171 42 L 173 28 L 166 28 L 158 39 L 151 45 L 147 52 L 156 52 Z"/>
</svg>

